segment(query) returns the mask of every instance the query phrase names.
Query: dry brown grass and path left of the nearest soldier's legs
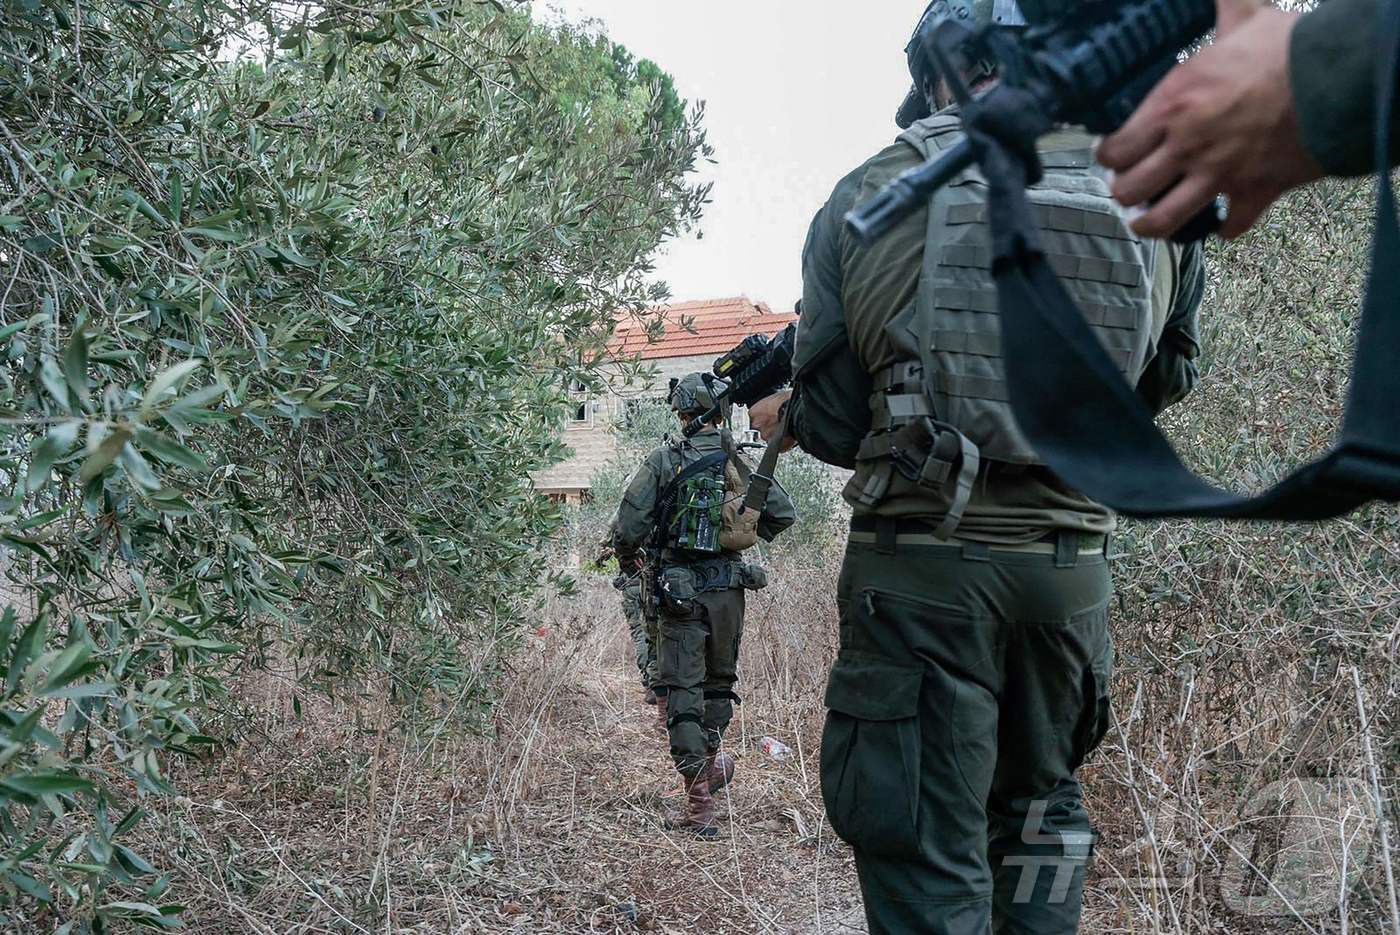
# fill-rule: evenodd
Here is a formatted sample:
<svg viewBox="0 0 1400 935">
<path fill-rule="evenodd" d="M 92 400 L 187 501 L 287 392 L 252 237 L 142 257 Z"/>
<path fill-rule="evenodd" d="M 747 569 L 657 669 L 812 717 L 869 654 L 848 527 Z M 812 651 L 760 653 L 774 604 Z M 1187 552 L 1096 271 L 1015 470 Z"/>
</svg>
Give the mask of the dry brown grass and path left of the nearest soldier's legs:
<svg viewBox="0 0 1400 935">
<path fill-rule="evenodd" d="M 589 581 L 512 661 L 490 738 L 405 732 L 365 698 L 304 704 L 298 719 L 286 683 L 241 686 L 272 726 L 186 763 L 189 798 L 151 803 L 144 844 L 175 872 L 193 932 L 847 931 L 858 894 L 822 819 L 820 711 L 815 691 L 783 694 L 795 669 L 766 648 L 766 603 L 746 665 L 770 675 L 729 735 L 741 773 L 717 843 L 661 827 L 679 785 L 616 592 Z M 766 733 L 798 754 L 767 759 Z"/>
</svg>

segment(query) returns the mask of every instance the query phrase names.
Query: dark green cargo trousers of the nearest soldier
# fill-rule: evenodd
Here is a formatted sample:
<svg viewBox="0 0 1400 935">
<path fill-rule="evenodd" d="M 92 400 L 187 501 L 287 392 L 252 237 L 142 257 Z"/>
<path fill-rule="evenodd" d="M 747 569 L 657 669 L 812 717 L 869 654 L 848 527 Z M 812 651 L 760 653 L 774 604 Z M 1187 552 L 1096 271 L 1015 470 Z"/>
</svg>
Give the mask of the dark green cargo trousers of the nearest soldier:
<svg viewBox="0 0 1400 935">
<path fill-rule="evenodd" d="M 1060 539 L 847 549 L 822 795 L 872 935 L 1078 931 L 1096 833 L 1074 774 L 1110 719 L 1112 582 L 1102 537 Z"/>
</svg>

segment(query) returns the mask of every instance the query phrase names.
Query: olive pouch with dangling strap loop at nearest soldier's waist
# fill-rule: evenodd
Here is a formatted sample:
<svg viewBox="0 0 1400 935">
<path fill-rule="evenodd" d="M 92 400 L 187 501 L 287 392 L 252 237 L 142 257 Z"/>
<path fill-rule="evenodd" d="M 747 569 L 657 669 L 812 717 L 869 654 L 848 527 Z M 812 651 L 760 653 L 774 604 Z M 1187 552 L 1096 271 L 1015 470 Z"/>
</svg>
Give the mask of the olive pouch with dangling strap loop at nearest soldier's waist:
<svg viewBox="0 0 1400 935">
<path fill-rule="evenodd" d="M 955 484 L 952 507 L 935 532 L 948 537 L 972 498 L 981 458 L 972 440 L 934 420 L 921 377 L 917 363 L 876 374 L 872 431 L 855 455 L 855 474 L 846 486 L 846 498 L 874 509 L 889 495 L 896 474 L 925 490 L 944 491 Z"/>
</svg>

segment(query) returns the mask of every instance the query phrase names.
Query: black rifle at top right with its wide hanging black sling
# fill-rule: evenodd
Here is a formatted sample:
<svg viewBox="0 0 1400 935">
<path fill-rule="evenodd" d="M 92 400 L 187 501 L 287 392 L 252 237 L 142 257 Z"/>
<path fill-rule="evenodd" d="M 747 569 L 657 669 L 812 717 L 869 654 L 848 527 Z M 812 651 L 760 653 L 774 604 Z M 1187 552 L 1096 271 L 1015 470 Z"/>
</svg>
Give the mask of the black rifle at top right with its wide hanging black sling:
<svg viewBox="0 0 1400 935">
<path fill-rule="evenodd" d="M 1026 186 L 1037 178 L 1036 139 L 1054 123 L 1106 132 L 1161 80 L 1175 52 L 1214 22 L 1211 0 L 1082 4 L 1084 15 L 1014 41 L 956 25 L 935 31 L 928 55 L 963 105 L 966 147 L 916 169 L 848 218 L 874 239 L 927 202 L 970 161 L 987 182 L 991 277 L 1001 315 L 1007 395 L 1022 434 L 1068 486 L 1137 516 L 1326 519 L 1380 500 L 1400 502 L 1400 213 L 1390 140 L 1400 95 L 1400 0 L 1376 18 L 1376 234 L 1347 416 L 1336 445 L 1268 490 L 1238 495 L 1197 476 L 1176 455 L 1040 249 Z M 991 53 L 1001 84 L 973 101 L 959 49 Z M 1218 213 L 1203 211 L 1208 232 Z M 1054 353 L 1046 353 L 1054 349 Z"/>
</svg>

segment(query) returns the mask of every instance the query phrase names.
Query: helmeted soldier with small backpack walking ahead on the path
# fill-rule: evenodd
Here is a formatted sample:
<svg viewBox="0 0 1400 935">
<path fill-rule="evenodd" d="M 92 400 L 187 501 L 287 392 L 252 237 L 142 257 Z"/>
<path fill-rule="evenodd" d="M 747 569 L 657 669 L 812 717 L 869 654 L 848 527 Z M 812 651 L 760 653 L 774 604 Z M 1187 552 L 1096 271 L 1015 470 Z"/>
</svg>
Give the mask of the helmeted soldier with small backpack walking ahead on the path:
<svg viewBox="0 0 1400 935">
<path fill-rule="evenodd" d="M 707 413 L 722 389 L 724 381 L 690 374 L 672 386 L 671 407 L 685 426 Z M 748 468 L 738 459 L 720 417 L 692 438 L 657 448 L 629 483 L 615 529 L 624 571 L 640 567 L 643 549 L 654 556 L 658 708 L 668 705 L 671 757 L 686 792 L 683 813 L 668 826 L 701 837 L 718 834 L 711 794 L 734 777 L 734 757 L 720 753 L 720 742 L 738 700 L 743 592 L 767 584 L 763 568 L 739 553 L 795 519 L 792 501 L 774 486 L 756 522 L 741 522 L 735 509 Z"/>
</svg>

